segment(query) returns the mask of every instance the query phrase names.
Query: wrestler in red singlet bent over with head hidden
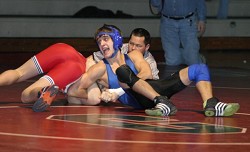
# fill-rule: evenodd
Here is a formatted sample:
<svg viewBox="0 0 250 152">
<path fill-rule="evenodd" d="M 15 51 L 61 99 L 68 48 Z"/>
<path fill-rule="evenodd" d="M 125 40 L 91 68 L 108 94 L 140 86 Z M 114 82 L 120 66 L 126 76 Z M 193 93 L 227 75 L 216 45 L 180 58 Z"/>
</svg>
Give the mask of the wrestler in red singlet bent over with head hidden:
<svg viewBox="0 0 250 152">
<path fill-rule="evenodd" d="M 91 65 L 92 58 L 85 58 L 72 46 L 56 43 L 39 52 L 16 69 L 4 71 L 0 75 L 0 86 L 23 82 L 43 74 L 43 76 L 28 86 L 21 94 L 23 103 L 34 102 L 35 112 L 44 111 L 56 97 L 59 90 L 67 92 L 68 86 L 79 79 Z M 99 102 L 95 93 L 100 93 L 95 83 L 87 89 L 86 102 Z M 49 98 L 48 98 L 49 97 Z"/>
</svg>

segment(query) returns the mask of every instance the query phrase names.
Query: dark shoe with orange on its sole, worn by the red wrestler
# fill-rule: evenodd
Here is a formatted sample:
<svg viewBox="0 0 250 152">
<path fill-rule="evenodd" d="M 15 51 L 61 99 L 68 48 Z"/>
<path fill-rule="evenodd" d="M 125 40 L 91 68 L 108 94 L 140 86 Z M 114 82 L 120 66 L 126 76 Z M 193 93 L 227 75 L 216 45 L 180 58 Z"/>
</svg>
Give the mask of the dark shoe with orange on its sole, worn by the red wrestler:
<svg viewBox="0 0 250 152">
<path fill-rule="evenodd" d="M 43 112 L 49 108 L 50 104 L 55 99 L 59 87 L 55 85 L 47 86 L 43 88 L 39 93 L 39 99 L 34 103 L 32 110 L 35 112 Z"/>
</svg>

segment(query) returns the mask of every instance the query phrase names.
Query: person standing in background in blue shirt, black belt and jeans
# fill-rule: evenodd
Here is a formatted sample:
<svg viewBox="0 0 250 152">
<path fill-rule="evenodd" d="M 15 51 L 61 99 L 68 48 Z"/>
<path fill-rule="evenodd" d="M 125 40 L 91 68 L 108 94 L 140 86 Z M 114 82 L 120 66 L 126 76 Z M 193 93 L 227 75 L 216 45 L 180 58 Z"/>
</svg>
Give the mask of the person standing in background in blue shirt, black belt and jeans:
<svg viewBox="0 0 250 152">
<path fill-rule="evenodd" d="M 198 36 L 206 29 L 205 0 L 151 0 L 161 13 L 160 36 L 167 65 L 202 63 Z"/>
</svg>

